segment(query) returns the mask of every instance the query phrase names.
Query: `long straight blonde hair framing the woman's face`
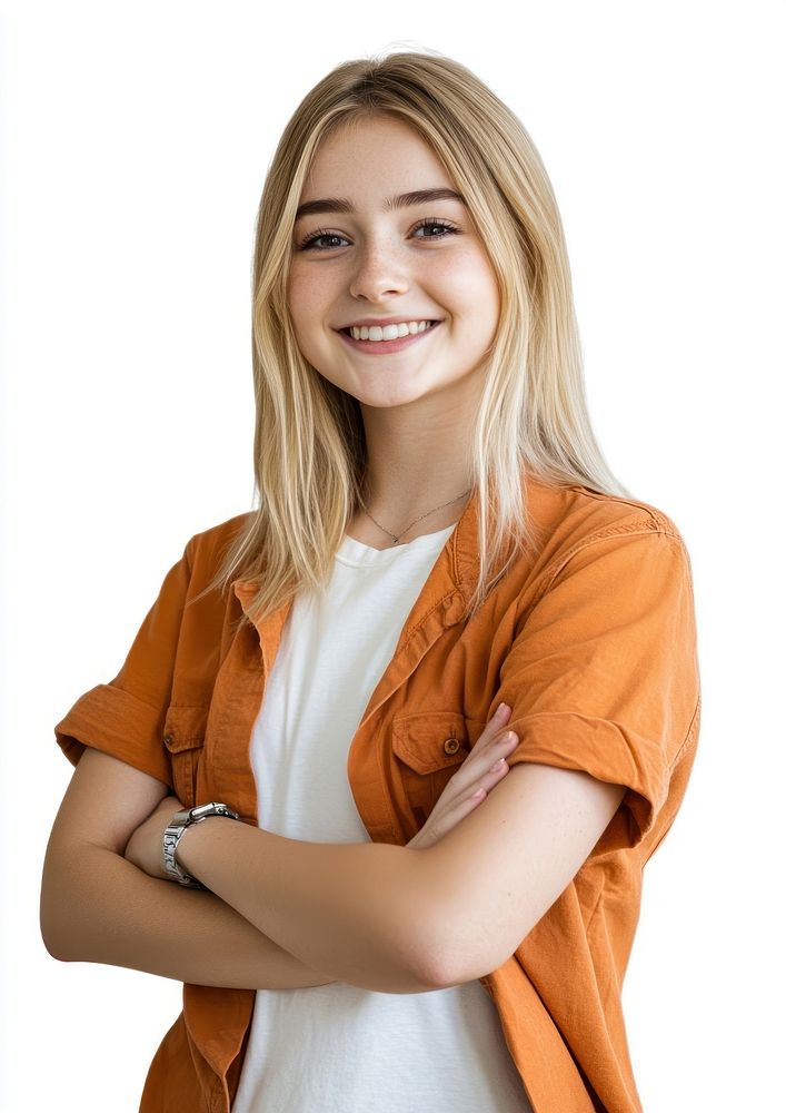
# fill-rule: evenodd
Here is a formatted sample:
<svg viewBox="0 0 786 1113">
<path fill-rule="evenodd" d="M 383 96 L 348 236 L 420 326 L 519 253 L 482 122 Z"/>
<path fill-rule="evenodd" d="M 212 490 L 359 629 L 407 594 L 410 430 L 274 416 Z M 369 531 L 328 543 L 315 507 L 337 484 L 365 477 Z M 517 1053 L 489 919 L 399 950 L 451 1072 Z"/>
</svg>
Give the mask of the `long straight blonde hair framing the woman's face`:
<svg viewBox="0 0 786 1113">
<path fill-rule="evenodd" d="M 362 498 L 359 403 L 300 354 L 286 290 L 296 210 L 320 141 L 377 115 L 408 124 L 441 160 L 499 284 L 499 327 L 468 445 L 479 575 L 467 615 L 531 545 L 525 473 L 630 494 L 609 471 L 590 425 L 563 225 L 520 120 L 470 70 L 436 51 L 344 62 L 289 120 L 257 217 L 252 364 L 260 504 L 208 589 L 258 579 L 248 607 L 255 620 L 300 591 L 325 589 Z"/>
</svg>

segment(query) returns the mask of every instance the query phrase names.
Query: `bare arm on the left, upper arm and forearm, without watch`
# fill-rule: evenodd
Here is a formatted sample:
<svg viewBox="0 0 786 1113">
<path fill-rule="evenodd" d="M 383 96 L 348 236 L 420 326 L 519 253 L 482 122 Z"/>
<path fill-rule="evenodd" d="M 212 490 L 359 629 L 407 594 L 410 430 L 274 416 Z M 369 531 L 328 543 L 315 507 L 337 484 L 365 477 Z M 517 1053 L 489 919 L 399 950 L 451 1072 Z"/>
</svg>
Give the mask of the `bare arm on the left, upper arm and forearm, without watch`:
<svg viewBox="0 0 786 1113">
<path fill-rule="evenodd" d="M 288 989 L 335 981 L 220 897 L 150 877 L 125 858 L 130 836 L 167 792 L 126 762 L 84 750 L 43 865 L 40 919 L 49 953 L 192 985 Z"/>
</svg>

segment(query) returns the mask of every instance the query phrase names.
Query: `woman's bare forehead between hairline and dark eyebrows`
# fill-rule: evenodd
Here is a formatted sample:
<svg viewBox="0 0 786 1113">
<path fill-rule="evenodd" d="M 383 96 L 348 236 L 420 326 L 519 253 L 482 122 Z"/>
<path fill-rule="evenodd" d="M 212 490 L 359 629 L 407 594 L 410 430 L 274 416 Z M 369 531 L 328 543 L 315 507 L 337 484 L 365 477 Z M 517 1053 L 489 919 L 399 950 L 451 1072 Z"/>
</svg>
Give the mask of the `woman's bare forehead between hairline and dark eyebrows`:
<svg viewBox="0 0 786 1113">
<path fill-rule="evenodd" d="M 390 117 L 362 117 L 322 139 L 300 199 L 388 196 L 437 186 L 454 181 L 415 128 Z"/>
</svg>

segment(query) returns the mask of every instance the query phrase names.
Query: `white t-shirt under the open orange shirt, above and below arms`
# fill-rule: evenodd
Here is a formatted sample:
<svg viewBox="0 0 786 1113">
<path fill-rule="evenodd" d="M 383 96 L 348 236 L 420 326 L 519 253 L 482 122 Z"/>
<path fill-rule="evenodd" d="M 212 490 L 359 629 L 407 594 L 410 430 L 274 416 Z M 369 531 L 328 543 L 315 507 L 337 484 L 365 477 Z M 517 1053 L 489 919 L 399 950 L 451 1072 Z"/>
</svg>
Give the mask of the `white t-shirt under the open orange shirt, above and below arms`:
<svg viewBox="0 0 786 1113">
<path fill-rule="evenodd" d="M 349 745 L 455 525 L 377 550 L 345 536 L 329 590 L 299 597 L 251 736 L 258 821 L 311 843 L 370 843 Z M 480 982 L 376 993 L 258 989 L 232 1113 L 531 1113 Z"/>
</svg>

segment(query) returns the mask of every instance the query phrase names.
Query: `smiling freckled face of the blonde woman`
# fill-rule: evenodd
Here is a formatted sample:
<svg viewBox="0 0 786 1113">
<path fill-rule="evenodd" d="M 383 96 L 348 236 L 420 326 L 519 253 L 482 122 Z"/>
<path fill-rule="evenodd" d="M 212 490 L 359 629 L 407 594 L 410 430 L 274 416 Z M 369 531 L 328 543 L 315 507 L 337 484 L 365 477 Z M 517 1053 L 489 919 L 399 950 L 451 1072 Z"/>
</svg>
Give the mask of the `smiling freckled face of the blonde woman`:
<svg viewBox="0 0 786 1113">
<path fill-rule="evenodd" d="M 422 190 L 457 191 L 408 125 L 377 117 L 326 139 L 300 198 L 319 205 L 295 224 L 290 314 L 304 356 L 362 406 L 432 398 L 469 413 L 497 282 L 462 200 L 401 198 Z"/>
</svg>

